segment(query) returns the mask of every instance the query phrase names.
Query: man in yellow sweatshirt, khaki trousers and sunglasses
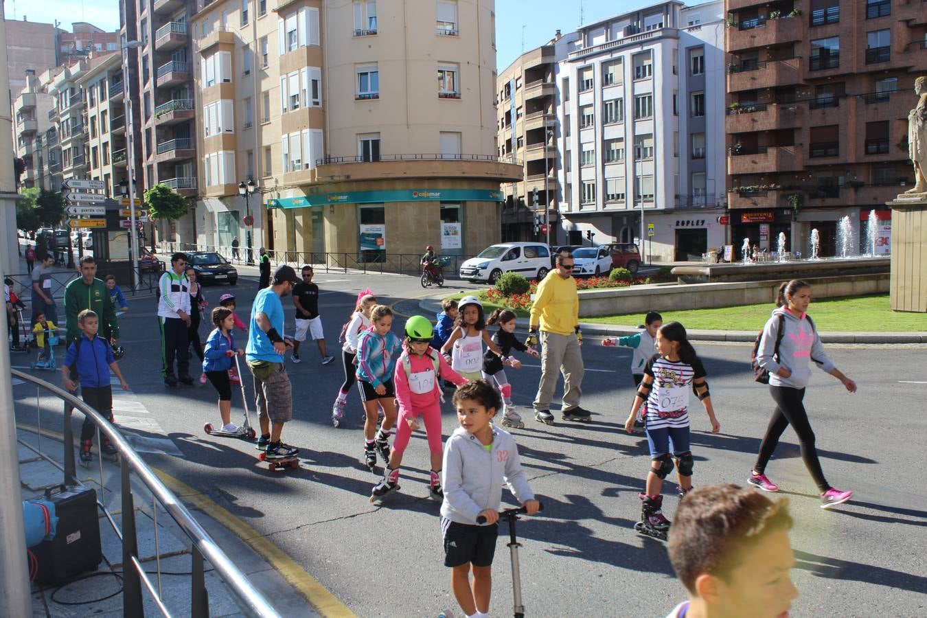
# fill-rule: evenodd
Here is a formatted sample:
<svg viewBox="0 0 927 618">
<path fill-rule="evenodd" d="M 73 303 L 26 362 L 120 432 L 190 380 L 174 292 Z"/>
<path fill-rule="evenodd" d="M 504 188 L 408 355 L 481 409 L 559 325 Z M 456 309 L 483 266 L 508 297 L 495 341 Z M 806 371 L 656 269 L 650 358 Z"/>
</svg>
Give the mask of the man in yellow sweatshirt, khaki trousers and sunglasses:
<svg viewBox="0 0 927 618">
<path fill-rule="evenodd" d="M 557 386 L 557 374 L 564 374 L 564 421 L 589 423 L 590 411 L 579 407 L 580 386 L 585 368 L 582 363 L 582 332 L 579 330 L 579 295 L 573 278 L 573 255 L 568 251 L 557 254 L 557 268 L 538 285 L 531 307 L 528 343 L 537 341 L 540 324 L 541 353 L 540 385 L 534 398 L 535 420 L 553 424 L 551 398 Z"/>
</svg>

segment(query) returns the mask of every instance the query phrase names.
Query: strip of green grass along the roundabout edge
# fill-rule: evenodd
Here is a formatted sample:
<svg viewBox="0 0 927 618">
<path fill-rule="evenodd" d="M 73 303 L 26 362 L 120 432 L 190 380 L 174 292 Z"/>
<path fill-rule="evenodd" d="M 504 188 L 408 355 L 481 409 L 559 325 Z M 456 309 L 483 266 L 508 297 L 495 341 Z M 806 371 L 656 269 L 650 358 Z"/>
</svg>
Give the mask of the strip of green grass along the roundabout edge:
<svg viewBox="0 0 927 618">
<path fill-rule="evenodd" d="M 742 305 L 721 309 L 662 311 L 664 322 L 682 322 L 686 328 L 722 331 L 759 331 L 769 319 L 773 306 Z M 821 298 L 812 300 L 808 313 L 820 331 L 898 332 L 927 331 L 927 313 L 908 313 L 889 309 L 888 295 Z M 643 322 L 641 313 L 580 318 L 581 322 L 635 325 Z"/>
</svg>

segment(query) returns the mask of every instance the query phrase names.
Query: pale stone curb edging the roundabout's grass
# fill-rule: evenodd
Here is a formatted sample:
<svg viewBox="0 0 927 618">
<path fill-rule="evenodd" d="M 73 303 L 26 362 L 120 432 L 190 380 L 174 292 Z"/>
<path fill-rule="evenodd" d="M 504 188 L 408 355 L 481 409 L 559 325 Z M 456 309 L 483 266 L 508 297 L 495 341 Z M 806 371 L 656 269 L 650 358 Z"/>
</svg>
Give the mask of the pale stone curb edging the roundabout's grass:
<svg viewBox="0 0 927 618">
<path fill-rule="evenodd" d="M 442 295 L 443 296 L 443 295 Z M 409 299 L 405 302 L 414 301 Z M 434 315 L 440 309 L 436 296 L 429 296 L 418 299 L 419 309 L 425 311 L 425 315 Z M 396 303 L 397 305 L 399 303 Z M 519 327 L 527 329 L 527 318 L 518 318 L 515 322 Z M 595 334 L 601 336 L 625 336 L 635 334 L 641 329 L 637 326 L 625 326 L 622 324 L 600 324 L 593 322 L 579 322 L 579 326 L 586 334 Z M 709 331 L 687 329 L 689 338 L 693 341 L 720 341 L 731 343 L 754 343 L 756 334 L 759 329 L 754 331 Z M 851 333 L 832 331 L 829 333 L 820 333 L 820 340 L 825 344 L 927 344 L 927 333 Z"/>
</svg>

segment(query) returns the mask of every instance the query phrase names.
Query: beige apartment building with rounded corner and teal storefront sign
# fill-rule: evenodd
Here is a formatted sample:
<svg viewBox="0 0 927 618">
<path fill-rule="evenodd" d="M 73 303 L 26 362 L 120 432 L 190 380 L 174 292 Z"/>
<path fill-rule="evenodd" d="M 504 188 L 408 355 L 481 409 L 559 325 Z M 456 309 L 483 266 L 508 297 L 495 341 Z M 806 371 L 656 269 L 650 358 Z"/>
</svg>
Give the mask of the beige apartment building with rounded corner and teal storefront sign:
<svg viewBox="0 0 927 618">
<path fill-rule="evenodd" d="M 191 19 L 200 242 L 244 246 L 248 214 L 255 246 L 368 261 L 498 241 L 522 169 L 495 150 L 493 2 L 267 4 Z"/>
</svg>

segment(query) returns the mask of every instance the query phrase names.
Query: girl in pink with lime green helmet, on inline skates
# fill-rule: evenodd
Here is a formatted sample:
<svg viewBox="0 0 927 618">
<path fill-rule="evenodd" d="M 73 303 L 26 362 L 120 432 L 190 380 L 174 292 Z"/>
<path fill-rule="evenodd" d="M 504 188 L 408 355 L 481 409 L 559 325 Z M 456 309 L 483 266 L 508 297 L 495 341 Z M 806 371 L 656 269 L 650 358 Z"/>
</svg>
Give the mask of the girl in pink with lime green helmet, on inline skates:
<svg viewBox="0 0 927 618">
<path fill-rule="evenodd" d="M 402 453 L 409 445 L 409 437 L 419 428 L 417 417 L 425 422 L 428 435 L 428 449 L 431 451 L 430 498 L 438 502 L 444 499 L 441 489 L 441 386 L 439 378 L 454 385 L 466 384 L 460 373 L 451 369 L 451 365 L 428 344 L 433 336 L 431 322 L 423 316 L 413 316 L 406 322 L 405 349 L 396 363 L 393 384 L 396 386 L 396 398 L 400 402 L 399 420 L 396 425 L 396 439 L 389 455 L 389 464 L 383 480 L 375 487 L 370 501 L 379 504 L 381 500 L 399 486 Z"/>
</svg>

